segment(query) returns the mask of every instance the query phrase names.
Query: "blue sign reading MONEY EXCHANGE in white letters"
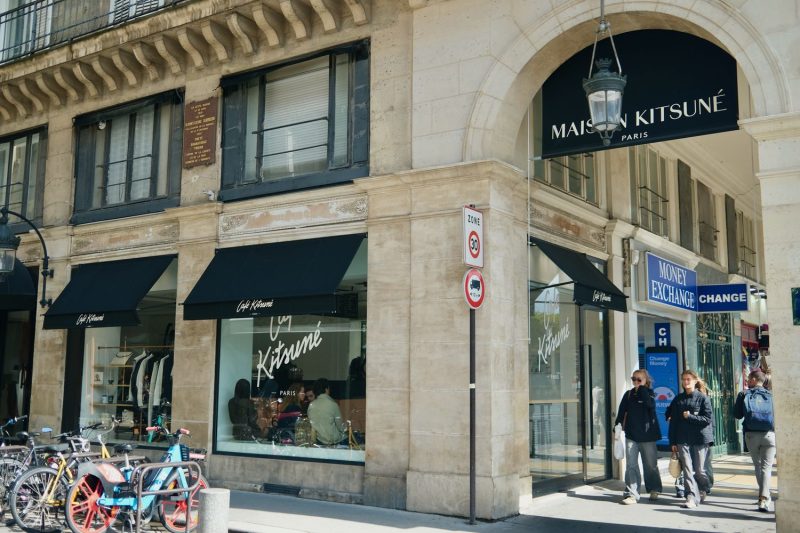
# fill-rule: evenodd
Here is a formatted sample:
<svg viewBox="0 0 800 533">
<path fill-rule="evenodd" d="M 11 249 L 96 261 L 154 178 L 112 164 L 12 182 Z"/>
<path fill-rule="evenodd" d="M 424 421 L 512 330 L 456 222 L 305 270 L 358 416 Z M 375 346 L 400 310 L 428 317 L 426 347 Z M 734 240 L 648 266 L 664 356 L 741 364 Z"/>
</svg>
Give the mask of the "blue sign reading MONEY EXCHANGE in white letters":
<svg viewBox="0 0 800 533">
<path fill-rule="evenodd" d="M 697 311 L 697 273 L 647 252 L 647 300 Z"/>
</svg>

